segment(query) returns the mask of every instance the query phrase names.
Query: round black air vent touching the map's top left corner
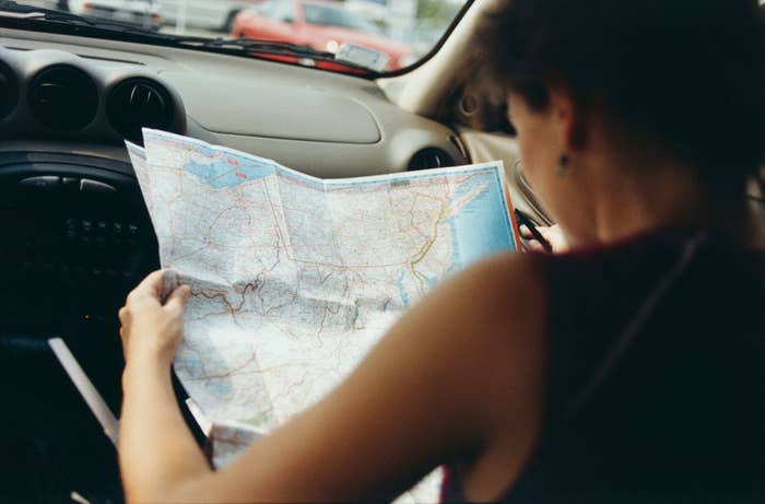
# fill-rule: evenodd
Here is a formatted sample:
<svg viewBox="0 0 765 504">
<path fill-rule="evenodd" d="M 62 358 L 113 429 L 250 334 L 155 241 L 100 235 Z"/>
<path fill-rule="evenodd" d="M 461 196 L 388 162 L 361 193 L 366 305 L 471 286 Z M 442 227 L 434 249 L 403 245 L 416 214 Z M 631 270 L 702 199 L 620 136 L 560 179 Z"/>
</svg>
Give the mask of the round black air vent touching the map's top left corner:
<svg viewBox="0 0 765 504">
<path fill-rule="evenodd" d="M 107 114 L 120 134 L 142 143 L 141 128 L 170 129 L 173 98 L 154 81 L 129 79 L 117 84 L 109 94 Z"/>
</svg>

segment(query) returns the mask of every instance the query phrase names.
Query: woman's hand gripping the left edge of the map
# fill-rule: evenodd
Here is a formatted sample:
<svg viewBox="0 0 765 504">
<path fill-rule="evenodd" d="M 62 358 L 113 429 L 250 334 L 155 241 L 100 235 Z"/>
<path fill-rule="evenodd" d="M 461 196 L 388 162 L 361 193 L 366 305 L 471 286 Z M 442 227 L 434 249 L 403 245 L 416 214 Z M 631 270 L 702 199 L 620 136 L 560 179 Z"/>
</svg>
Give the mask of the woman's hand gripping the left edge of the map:
<svg viewBox="0 0 765 504">
<path fill-rule="evenodd" d="M 143 279 L 119 310 L 126 365 L 133 359 L 158 360 L 169 365 L 184 338 L 184 306 L 191 291 L 188 285 L 181 285 L 163 305 L 162 276 L 160 270 Z"/>
</svg>

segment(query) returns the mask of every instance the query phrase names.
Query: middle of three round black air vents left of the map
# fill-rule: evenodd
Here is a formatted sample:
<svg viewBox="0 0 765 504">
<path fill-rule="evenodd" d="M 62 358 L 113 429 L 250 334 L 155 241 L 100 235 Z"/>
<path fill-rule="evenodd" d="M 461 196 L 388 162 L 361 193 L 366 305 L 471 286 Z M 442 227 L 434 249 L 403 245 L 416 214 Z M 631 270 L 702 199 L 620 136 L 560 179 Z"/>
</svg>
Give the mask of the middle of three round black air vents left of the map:
<svg viewBox="0 0 765 504">
<path fill-rule="evenodd" d="M 98 109 L 93 79 L 74 67 L 56 66 L 39 72 L 30 84 L 32 115 L 55 131 L 78 131 L 90 125 Z"/>
</svg>

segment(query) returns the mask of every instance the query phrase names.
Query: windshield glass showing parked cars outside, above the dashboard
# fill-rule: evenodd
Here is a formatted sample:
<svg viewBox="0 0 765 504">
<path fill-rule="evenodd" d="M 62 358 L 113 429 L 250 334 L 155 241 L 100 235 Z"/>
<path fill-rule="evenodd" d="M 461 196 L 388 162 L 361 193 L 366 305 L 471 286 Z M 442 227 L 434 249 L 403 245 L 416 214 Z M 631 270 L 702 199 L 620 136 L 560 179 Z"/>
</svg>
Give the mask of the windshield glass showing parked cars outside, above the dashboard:
<svg viewBox="0 0 765 504">
<path fill-rule="evenodd" d="M 158 35 L 286 43 L 328 57 L 336 55 L 338 60 L 376 72 L 389 72 L 414 65 L 431 52 L 466 1 L 17 0 L 16 3 L 68 12 L 108 23 L 113 28 L 123 24 Z M 108 37 L 109 33 L 98 36 Z"/>
</svg>

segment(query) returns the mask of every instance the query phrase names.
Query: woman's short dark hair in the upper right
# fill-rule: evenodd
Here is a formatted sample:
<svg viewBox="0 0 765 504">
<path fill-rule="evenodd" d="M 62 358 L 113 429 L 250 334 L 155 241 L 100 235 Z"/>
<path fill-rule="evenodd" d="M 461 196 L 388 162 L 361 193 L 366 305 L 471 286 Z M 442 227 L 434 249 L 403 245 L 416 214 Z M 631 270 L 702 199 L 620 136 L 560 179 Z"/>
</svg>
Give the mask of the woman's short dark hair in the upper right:
<svg viewBox="0 0 765 504">
<path fill-rule="evenodd" d="M 715 190 L 741 190 L 765 161 L 762 26 L 756 0 L 508 0 L 480 75 L 538 109 L 565 87 Z"/>
</svg>

